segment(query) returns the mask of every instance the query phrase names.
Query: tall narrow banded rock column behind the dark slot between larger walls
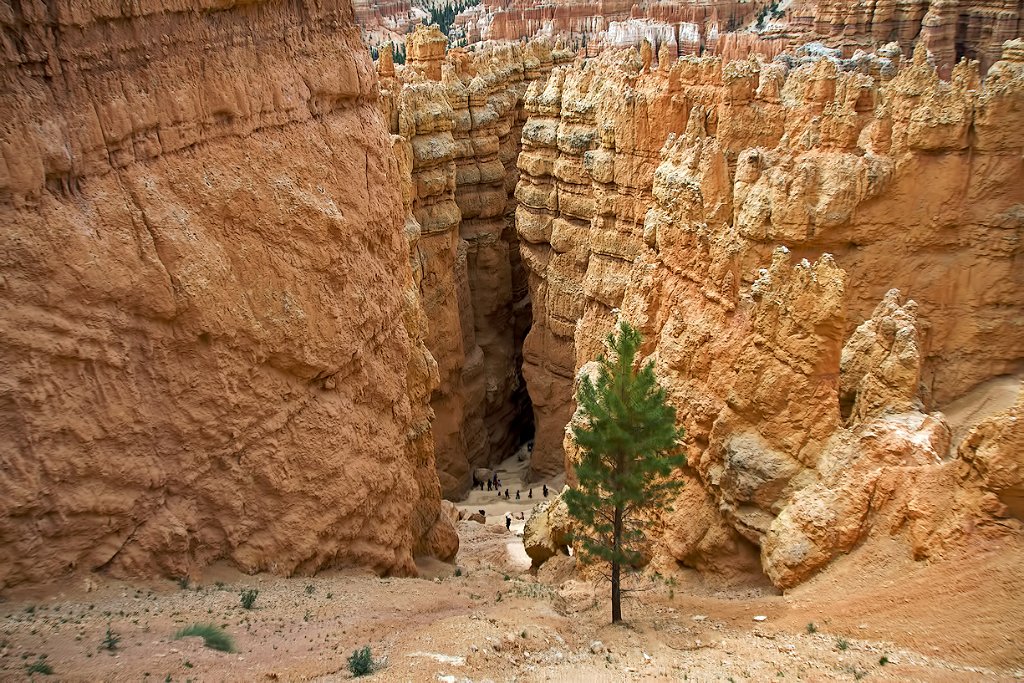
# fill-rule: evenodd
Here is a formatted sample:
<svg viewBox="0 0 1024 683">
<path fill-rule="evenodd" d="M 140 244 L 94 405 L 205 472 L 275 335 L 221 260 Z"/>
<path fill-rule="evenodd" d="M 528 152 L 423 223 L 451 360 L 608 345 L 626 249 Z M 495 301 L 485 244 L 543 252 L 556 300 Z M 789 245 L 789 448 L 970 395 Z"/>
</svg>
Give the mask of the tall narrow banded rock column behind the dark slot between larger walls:
<svg viewBox="0 0 1024 683">
<path fill-rule="evenodd" d="M 413 260 L 440 383 L 431 404 L 446 496 L 474 469 L 511 456 L 530 434 L 521 347 L 530 323 L 511 193 L 527 84 L 564 58 L 538 43 L 445 53 L 421 28 L 409 61 L 383 62 L 383 105 L 411 160 Z"/>
</svg>

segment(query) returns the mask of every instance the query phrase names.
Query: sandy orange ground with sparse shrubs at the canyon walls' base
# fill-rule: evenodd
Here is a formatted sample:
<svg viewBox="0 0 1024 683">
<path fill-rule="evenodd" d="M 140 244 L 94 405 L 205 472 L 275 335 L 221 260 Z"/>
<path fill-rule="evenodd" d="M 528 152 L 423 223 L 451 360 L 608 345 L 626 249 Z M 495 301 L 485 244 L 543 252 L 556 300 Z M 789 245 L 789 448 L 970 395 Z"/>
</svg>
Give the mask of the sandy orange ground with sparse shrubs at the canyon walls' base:
<svg viewBox="0 0 1024 683">
<path fill-rule="evenodd" d="M 513 496 L 522 467 L 499 468 Z M 213 567 L 187 588 L 90 575 L 9 592 L 0 680 L 26 680 L 42 661 L 52 674 L 34 679 L 336 681 L 364 645 L 379 664 L 368 681 L 1024 680 L 1024 542 L 928 564 L 887 541 L 786 595 L 681 570 L 641 586 L 624 602 L 627 624 L 612 627 L 606 585 L 526 571 L 523 522 L 508 531 L 504 515 L 528 518 L 540 490 L 518 502 L 471 494 L 460 507 L 485 509 L 487 522 L 460 522 L 458 565 L 423 563 L 420 579 Z M 250 588 L 259 595 L 245 609 Z M 236 651 L 174 638 L 191 624 L 223 628 Z"/>
</svg>

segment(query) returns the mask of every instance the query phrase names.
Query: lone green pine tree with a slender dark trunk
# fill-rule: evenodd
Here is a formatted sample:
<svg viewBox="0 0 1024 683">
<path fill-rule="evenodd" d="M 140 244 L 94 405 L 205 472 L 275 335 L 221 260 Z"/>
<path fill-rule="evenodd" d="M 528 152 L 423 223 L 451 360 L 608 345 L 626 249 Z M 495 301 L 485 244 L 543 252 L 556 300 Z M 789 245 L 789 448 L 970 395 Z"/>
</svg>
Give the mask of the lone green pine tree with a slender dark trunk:
<svg viewBox="0 0 1024 683">
<path fill-rule="evenodd" d="M 583 559 L 611 565 L 611 623 L 621 622 L 621 572 L 641 562 L 649 513 L 668 508 L 682 485 L 669 478 L 686 464 L 680 453 L 683 430 L 666 402 L 654 364 L 637 369 L 640 333 L 623 322 L 608 335 L 608 355 L 598 357 L 597 377 L 583 377 L 572 436 L 582 456 L 579 485 L 566 492 L 569 514 L 583 531 L 575 535 Z"/>
</svg>

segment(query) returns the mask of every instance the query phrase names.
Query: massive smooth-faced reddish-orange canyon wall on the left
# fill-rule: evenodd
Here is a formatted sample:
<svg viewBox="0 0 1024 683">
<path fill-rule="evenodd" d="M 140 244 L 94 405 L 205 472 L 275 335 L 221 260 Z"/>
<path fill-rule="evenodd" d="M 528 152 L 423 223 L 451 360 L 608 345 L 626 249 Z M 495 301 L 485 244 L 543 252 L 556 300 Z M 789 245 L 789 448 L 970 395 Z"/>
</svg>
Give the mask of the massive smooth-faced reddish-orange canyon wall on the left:
<svg viewBox="0 0 1024 683">
<path fill-rule="evenodd" d="M 0 22 L 0 586 L 454 557 L 349 2 Z"/>
</svg>

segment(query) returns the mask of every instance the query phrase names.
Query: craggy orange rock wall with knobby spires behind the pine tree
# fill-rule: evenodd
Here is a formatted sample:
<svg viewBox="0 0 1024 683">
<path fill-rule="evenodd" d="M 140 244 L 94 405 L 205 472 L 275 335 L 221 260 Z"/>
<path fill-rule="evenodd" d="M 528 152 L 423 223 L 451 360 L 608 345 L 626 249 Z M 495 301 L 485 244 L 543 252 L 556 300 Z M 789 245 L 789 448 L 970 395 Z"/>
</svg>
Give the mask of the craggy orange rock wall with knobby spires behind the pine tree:
<svg viewBox="0 0 1024 683">
<path fill-rule="evenodd" d="M 1019 533 L 984 503 L 999 488 L 1013 509 L 1012 476 L 957 474 L 928 413 L 1024 359 L 1018 55 L 1008 43 L 982 83 L 967 62 L 939 80 L 923 49 L 649 74 L 634 52 L 531 86 L 517 226 L 535 470 L 561 466 L 573 378 L 622 315 L 688 434 L 671 557 L 759 554 L 785 588 L 879 529 L 919 557 L 956 528 Z M 944 480 L 957 505 L 919 514 Z"/>
</svg>

